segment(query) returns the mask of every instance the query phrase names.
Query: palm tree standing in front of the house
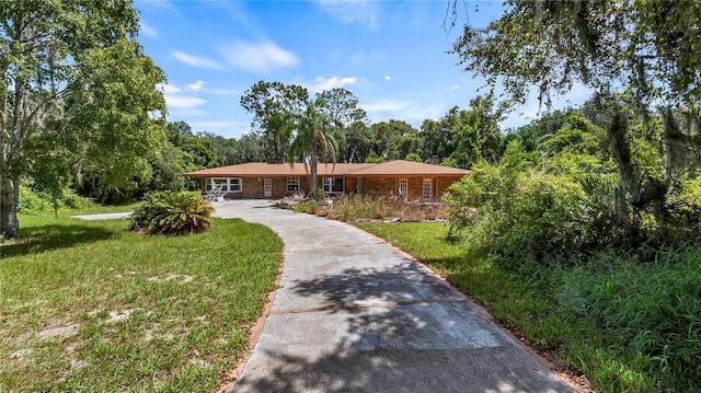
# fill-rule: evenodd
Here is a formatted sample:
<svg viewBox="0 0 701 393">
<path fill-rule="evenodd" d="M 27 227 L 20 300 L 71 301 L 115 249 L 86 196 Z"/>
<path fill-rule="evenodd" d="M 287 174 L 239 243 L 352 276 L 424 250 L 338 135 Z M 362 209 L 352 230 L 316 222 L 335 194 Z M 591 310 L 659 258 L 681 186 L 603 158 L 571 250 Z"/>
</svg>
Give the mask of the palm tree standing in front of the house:
<svg viewBox="0 0 701 393">
<path fill-rule="evenodd" d="M 321 99 L 307 104 L 306 111 L 299 116 L 297 135 L 287 150 L 290 165 L 301 159 L 309 173 L 309 186 L 313 197 L 319 196 L 317 183 L 317 165 L 322 155 L 330 155 L 336 162 L 336 141 L 331 135 L 330 120 L 319 111 L 323 104 Z"/>
</svg>

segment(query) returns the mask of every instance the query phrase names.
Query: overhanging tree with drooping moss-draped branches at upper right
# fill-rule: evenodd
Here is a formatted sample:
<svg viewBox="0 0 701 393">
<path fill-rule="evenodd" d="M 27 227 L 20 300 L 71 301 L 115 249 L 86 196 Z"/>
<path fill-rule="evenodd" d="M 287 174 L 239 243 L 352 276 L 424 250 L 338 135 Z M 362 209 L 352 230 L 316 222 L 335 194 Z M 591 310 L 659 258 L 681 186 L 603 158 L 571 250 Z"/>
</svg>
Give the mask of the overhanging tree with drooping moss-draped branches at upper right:
<svg viewBox="0 0 701 393">
<path fill-rule="evenodd" d="M 502 108 L 524 103 L 533 89 L 545 105 L 575 85 L 593 90 L 618 167 L 618 219 L 628 221 L 631 209 L 665 206 L 674 184 L 697 166 L 700 18 L 694 1 L 506 1 L 487 26 L 466 25 L 453 53 L 467 71 L 502 86 Z M 647 119 L 654 106 L 665 123 L 663 183 L 645 177 L 631 157 L 627 108 Z M 664 222 L 665 208 L 656 210 Z"/>
</svg>

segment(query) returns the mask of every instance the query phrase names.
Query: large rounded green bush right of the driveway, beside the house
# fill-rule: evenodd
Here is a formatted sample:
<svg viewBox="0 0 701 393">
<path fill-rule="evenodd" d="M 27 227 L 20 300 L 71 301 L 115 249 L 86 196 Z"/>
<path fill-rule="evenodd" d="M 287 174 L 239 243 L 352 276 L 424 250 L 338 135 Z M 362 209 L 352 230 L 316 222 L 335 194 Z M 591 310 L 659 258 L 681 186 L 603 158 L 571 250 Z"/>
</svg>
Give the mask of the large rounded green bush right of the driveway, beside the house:
<svg viewBox="0 0 701 393">
<path fill-rule="evenodd" d="M 514 172 L 489 164 L 453 184 L 450 235 L 470 229 L 468 242 L 507 261 L 576 252 L 589 234 L 579 185 L 563 176 Z"/>
</svg>

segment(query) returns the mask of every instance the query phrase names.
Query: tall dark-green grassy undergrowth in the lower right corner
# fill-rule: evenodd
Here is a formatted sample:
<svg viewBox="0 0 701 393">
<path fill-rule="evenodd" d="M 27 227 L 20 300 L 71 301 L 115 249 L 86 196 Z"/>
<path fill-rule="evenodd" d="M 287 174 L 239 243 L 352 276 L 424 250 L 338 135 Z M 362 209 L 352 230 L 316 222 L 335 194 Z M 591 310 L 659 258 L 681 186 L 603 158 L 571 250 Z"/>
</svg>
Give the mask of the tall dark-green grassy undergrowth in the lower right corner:
<svg viewBox="0 0 701 393">
<path fill-rule="evenodd" d="M 570 354 L 571 363 L 587 371 L 597 385 L 701 389 L 701 247 L 668 252 L 663 261 L 648 264 L 600 253 L 588 265 L 558 276 L 558 304 L 600 332 L 598 350 L 571 346 Z M 620 372 L 623 366 L 627 372 Z"/>
</svg>

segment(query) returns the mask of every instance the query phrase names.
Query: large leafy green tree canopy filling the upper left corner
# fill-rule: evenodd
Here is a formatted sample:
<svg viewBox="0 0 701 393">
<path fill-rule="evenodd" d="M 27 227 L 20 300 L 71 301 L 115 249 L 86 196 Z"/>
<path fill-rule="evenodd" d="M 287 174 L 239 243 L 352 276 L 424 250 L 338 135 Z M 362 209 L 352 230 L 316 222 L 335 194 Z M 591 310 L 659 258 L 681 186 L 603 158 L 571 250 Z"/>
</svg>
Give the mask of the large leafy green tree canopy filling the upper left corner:
<svg viewBox="0 0 701 393">
<path fill-rule="evenodd" d="M 123 186 L 146 167 L 145 152 L 163 137 L 165 103 L 156 84 L 164 76 L 142 54 L 138 28 L 127 0 L 3 2 L 1 235 L 18 234 L 19 183 L 27 172 L 54 180 L 50 188 L 70 171 Z"/>
</svg>

